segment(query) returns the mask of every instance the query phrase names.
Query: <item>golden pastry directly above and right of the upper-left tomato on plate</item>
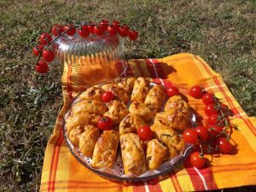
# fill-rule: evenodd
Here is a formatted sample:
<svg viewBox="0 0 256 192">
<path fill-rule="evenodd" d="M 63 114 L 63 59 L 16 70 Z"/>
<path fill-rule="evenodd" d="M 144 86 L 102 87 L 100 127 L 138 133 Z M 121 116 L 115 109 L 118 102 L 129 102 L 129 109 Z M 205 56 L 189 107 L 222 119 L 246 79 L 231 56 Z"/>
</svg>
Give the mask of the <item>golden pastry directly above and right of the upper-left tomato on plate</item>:
<svg viewBox="0 0 256 192">
<path fill-rule="evenodd" d="M 111 91 L 115 99 L 119 101 L 122 101 L 122 102 L 129 101 L 128 94 L 125 92 L 123 88 L 120 88 L 117 84 L 103 84 L 102 89 Z"/>
</svg>

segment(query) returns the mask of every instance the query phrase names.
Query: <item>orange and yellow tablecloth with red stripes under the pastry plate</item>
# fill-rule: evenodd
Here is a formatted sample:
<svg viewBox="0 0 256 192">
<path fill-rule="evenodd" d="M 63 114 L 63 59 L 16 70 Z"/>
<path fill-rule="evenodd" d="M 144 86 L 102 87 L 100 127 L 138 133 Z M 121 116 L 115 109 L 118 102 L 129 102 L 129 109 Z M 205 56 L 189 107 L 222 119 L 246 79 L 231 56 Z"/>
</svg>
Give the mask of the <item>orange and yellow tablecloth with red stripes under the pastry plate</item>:
<svg viewBox="0 0 256 192">
<path fill-rule="evenodd" d="M 76 72 L 72 67 L 65 66 L 62 77 L 62 81 L 66 83 L 62 87 L 64 106 L 45 150 L 40 191 L 166 192 L 223 189 L 256 184 L 256 118 L 247 116 L 231 95 L 221 76 L 215 73 L 201 57 L 178 54 L 162 59 L 130 60 L 128 64 L 126 75 L 168 79 L 186 96 L 189 87 L 194 84 L 200 84 L 208 92 L 215 93 L 234 113 L 234 117 L 230 120 L 239 127 L 239 131 L 232 134 L 238 145 L 238 153 L 220 154 L 219 157 L 214 157 L 211 166 L 205 169 L 196 169 L 184 163 L 177 172 L 166 175 L 156 183 L 125 185 L 97 176 L 73 157 L 63 141 L 61 131 L 63 115 L 68 103 L 81 91 L 72 85 Z M 206 118 L 201 100 L 190 96 L 188 98 L 189 104 Z"/>
</svg>

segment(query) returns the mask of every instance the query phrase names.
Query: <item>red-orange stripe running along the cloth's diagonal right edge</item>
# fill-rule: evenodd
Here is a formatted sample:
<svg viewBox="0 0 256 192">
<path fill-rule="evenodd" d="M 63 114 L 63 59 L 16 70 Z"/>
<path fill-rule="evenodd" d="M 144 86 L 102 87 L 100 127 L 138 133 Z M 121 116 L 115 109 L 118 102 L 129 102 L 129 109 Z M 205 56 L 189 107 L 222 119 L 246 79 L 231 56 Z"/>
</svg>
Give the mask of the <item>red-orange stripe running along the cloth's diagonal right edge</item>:
<svg viewBox="0 0 256 192">
<path fill-rule="evenodd" d="M 200 61 L 201 65 L 206 69 L 207 73 L 212 76 L 214 82 L 218 85 L 218 89 L 223 93 L 225 99 L 228 101 L 230 107 L 233 109 L 234 113 L 236 114 L 236 117 L 242 119 L 246 123 L 248 128 L 253 132 L 253 135 L 256 136 L 256 132 L 254 131 L 254 130 L 256 130 L 256 128 L 253 126 L 253 124 L 251 123 L 250 119 L 242 118 L 242 116 L 239 114 L 237 108 L 235 107 L 234 103 L 231 101 L 230 97 L 226 94 L 225 90 L 221 87 L 221 85 L 220 85 L 220 83 L 218 81 L 218 78 L 212 74 L 212 72 L 209 70 L 207 65 L 205 63 L 203 63 L 201 60 L 199 60 L 196 55 L 195 55 L 195 58 L 198 61 Z"/>
</svg>

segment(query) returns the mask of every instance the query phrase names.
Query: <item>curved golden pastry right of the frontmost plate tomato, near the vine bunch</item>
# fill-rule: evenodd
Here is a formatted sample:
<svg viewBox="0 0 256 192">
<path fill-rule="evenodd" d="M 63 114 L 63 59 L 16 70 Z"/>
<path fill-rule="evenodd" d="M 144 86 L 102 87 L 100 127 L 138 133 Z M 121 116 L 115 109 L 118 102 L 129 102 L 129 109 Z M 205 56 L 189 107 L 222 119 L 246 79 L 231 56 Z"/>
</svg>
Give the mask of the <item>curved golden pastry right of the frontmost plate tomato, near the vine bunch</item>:
<svg viewBox="0 0 256 192">
<path fill-rule="evenodd" d="M 177 153 L 183 151 L 185 143 L 171 127 L 154 124 L 151 126 L 151 130 L 154 132 L 154 137 L 157 137 L 161 142 L 166 144 L 168 148 L 166 160 L 172 160 L 173 157 L 177 156 Z"/>
</svg>

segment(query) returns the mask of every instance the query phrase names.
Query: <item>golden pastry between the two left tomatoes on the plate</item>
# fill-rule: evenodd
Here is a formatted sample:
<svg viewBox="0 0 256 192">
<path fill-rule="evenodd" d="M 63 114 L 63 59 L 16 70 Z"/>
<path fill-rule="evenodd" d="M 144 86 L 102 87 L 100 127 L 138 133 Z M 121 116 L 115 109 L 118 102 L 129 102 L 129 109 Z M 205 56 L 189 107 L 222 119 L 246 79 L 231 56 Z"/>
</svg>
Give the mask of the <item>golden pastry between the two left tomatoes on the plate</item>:
<svg viewBox="0 0 256 192">
<path fill-rule="evenodd" d="M 104 113 L 104 116 L 110 117 L 114 125 L 119 124 L 126 114 L 129 113 L 125 103 L 118 100 L 109 103 L 108 108 L 108 112 Z"/>
</svg>

